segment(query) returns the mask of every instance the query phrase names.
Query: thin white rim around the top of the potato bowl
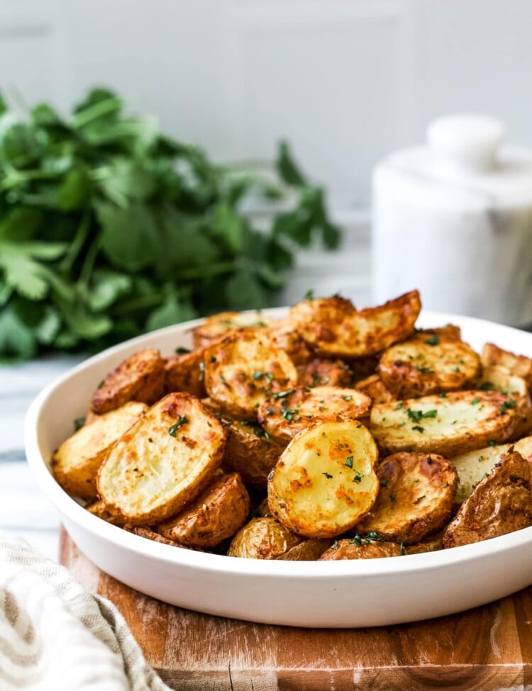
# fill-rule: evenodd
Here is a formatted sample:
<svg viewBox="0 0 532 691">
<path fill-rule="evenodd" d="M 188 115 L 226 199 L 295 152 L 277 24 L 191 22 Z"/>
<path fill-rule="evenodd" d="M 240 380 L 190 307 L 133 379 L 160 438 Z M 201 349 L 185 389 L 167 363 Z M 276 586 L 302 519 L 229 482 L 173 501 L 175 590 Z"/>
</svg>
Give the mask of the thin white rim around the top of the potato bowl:
<svg viewBox="0 0 532 691">
<path fill-rule="evenodd" d="M 272 308 L 269 310 L 262 310 L 262 312 L 266 316 L 279 316 L 286 313 L 286 310 L 287 308 Z M 523 334 L 527 335 L 526 332 L 513 327 L 499 325 L 487 320 L 448 313 L 423 311 L 420 315 L 422 327 L 423 320 L 435 322 L 435 324 L 455 322 L 460 326 L 476 326 L 482 329 L 486 327 L 497 327 L 497 329 L 507 330 L 509 337 L 515 334 L 519 334 L 520 337 L 522 337 Z M 45 495 L 48 496 L 56 509 L 67 517 L 67 519 L 79 524 L 80 527 L 83 527 L 88 532 L 110 543 L 123 546 L 128 549 L 128 551 L 138 556 L 145 556 L 162 563 L 174 564 L 176 566 L 188 566 L 189 568 L 195 568 L 199 571 L 209 571 L 220 575 L 242 575 L 247 577 L 266 576 L 270 579 L 286 578 L 289 576 L 293 578 L 304 578 L 306 580 L 319 580 L 323 578 L 356 578 L 358 575 L 375 576 L 375 578 L 379 578 L 391 574 L 409 575 L 411 573 L 419 573 L 420 571 L 439 571 L 445 568 L 445 566 L 457 566 L 460 563 L 470 563 L 471 561 L 489 557 L 492 553 L 501 554 L 532 544 L 531 526 L 473 544 L 423 554 L 404 555 L 401 557 L 368 560 L 340 560 L 332 562 L 245 559 L 199 552 L 192 549 L 180 549 L 179 547 L 176 548 L 167 544 L 157 543 L 129 533 L 89 513 L 82 505 L 79 505 L 76 500 L 70 497 L 70 495 L 60 487 L 57 481 L 55 481 L 52 473 L 50 473 L 47 461 L 40 451 L 38 442 L 38 423 L 50 395 L 58 388 L 61 388 L 72 378 L 72 376 L 92 369 L 95 365 L 101 364 L 101 362 L 108 359 L 109 356 L 118 354 L 122 350 L 135 346 L 136 344 L 142 345 L 145 341 L 153 339 L 154 337 L 157 339 L 158 337 L 165 337 L 176 332 L 184 333 L 190 331 L 203 321 L 204 320 L 200 318 L 182 322 L 121 342 L 99 354 L 89 357 L 87 360 L 74 366 L 74 368 L 69 369 L 62 374 L 62 376 L 56 378 L 52 383 L 43 388 L 43 391 L 40 391 L 35 397 L 26 413 L 24 426 L 28 465 Z M 528 334 L 528 336 L 531 339 L 532 347 L 532 334 Z"/>
</svg>

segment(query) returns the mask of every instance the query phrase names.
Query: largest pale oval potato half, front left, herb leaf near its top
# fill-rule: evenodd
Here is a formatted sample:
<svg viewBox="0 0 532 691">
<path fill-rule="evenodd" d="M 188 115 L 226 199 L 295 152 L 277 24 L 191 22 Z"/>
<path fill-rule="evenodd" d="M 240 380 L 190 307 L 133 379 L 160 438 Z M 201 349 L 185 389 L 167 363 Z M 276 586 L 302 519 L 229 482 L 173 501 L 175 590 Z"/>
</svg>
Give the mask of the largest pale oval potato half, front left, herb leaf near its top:
<svg viewBox="0 0 532 691">
<path fill-rule="evenodd" d="M 169 393 L 113 446 L 99 469 L 99 494 L 125 522 L 162 522 L 209 483 L 225 441 L 221 423 L 197 398 Z"/>
</svg>

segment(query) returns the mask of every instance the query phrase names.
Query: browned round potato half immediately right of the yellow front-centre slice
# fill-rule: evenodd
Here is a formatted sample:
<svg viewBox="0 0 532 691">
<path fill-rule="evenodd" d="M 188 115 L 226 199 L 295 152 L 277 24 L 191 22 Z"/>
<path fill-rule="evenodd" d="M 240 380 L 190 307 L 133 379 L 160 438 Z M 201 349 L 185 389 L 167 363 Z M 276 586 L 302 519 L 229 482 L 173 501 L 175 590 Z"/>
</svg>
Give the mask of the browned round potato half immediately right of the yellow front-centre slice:
<svg viewBox="0 0 532 691">
<path fill-rule="evenodd" d="M 394 454 L 380 461 L 376 471 L 377 501 L 358 524 L 358 532 L 415 544 L 448 522 L 458 474 L 443 456 Z"/>
</svg>

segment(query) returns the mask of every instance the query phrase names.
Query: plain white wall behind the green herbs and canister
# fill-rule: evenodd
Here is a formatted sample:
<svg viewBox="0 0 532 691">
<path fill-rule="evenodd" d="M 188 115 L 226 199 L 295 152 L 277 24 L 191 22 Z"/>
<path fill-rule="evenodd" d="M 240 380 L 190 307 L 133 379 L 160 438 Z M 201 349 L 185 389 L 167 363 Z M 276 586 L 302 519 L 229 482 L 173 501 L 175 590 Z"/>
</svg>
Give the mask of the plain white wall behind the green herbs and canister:
<svg viewBox="0 0 532 691">
<path fill-rule="evenodd" d="M 338 209 L 428 120 L 532 145 L 532 0 L 0 0 L 0 84 L 67 107 L 109 84 L 217 159 L 288 137 Z"/>
</svg>

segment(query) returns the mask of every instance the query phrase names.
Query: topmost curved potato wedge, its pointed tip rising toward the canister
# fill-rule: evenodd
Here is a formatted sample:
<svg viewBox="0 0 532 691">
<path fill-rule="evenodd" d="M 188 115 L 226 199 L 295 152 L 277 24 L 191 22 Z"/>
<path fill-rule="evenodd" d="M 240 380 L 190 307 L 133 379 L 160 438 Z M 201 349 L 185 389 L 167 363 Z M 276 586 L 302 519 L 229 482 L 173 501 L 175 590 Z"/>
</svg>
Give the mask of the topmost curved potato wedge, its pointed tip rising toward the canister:
<svg viewBox="0 0 532 691">
<path fill-rule="evenodd" d="M 411 291 L 360 312 L 343 298 L 303 300 L 290 309 L 289 320 L 316 352 L 360 357 L 378 353 L 409 336 L 419 310 L 419 293 Z"/>
</svg>

